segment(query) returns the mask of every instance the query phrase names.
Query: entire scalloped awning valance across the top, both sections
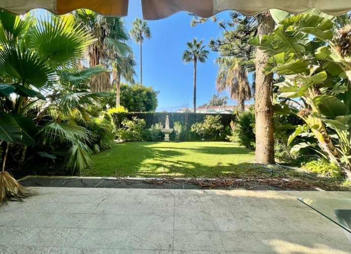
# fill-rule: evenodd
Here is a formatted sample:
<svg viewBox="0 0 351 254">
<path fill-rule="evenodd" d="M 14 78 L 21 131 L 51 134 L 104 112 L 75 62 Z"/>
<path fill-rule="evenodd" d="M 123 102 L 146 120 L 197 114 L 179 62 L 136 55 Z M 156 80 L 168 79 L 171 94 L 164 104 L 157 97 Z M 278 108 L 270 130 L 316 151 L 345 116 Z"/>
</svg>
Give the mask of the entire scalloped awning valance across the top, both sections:
<svg viewBox="0 0 351 254">
<path fill-rule="evenodd" d="M 76 9 L 91 9 L 106 16 L 126 16 L 128 2 L 128 0 L 0 0 L 0 8 L 16 14 L 43 8 L 55 14 L 65 14 Z M 331 15 L 340 15 L 351 10 L 351 0 L 141 0 L 141 4 L 143 18 L 147 20 L 162 19 L 180 11 L 211 17 L 225 10 L 236 10 L 247 16 L 269 9 L 301 13 L 316 8 Z"/>
</svg>

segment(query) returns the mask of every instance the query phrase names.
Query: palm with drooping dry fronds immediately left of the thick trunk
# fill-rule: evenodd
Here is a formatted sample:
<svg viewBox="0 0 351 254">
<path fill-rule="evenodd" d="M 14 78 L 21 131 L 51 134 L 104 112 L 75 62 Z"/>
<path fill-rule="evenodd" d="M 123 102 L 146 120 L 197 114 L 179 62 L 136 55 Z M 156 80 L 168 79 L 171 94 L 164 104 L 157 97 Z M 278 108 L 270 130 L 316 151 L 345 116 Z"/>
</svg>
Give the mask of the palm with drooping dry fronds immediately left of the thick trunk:
<svg viewBox="0 0 351 254">
<path fill-rule="evenodd" d="M 236 57 L 218 57 L 216 65 L 219 66 L 216 78 L 217 91 L 228 91 L 230 98 L 237 100 L 239 111 L 243 112 L 245 100 L 250 100 L 252 97 L 246 67 L 241 65 Z"/>
</svg>

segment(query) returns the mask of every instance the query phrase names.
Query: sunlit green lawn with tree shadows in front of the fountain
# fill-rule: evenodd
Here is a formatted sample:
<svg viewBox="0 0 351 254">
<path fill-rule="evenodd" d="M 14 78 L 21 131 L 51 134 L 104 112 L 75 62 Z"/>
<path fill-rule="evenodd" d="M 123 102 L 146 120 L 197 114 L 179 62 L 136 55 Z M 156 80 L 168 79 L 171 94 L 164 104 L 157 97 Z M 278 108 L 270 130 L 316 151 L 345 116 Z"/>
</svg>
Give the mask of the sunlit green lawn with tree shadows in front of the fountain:
<svg viewBox="0 0 351 254">
<path fill-rule="evenodd" d="M 254 151 L 225 142 L 120 143 L 94 156 L 85 176 L 220 177 L 247 176 L 240 161 L 253 161 Z M 245 171 L 245 172 L 244 172 Z"/>
</svg>

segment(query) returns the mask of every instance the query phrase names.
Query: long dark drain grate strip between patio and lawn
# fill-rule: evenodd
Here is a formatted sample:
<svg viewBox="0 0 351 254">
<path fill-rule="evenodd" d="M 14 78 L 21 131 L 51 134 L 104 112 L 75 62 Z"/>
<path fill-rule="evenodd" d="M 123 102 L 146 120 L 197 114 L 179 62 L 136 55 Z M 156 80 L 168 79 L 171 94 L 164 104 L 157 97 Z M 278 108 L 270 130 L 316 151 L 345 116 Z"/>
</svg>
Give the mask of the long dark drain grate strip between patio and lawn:
<svg viewBox="0 0 351 254">
<path fill-rule="evenodd" d="M 41 178 L 28 177 L 20 180 L 21 185 L 27 187 L 76 187 L 76 188 L 138 188 L 138 189 L 243 189 L 243 190 L 296 190 L 269 185 L 251 184 L 245 186 L 215 186 L 203 187 L 186 182 L 164 182 L 162 184 L 151 184 L 142 180 L 129 179 L 105 179 L 105 178 Z M 317 189 L 303 189 L 307 191 L 318 191 Z"/>
</svg>

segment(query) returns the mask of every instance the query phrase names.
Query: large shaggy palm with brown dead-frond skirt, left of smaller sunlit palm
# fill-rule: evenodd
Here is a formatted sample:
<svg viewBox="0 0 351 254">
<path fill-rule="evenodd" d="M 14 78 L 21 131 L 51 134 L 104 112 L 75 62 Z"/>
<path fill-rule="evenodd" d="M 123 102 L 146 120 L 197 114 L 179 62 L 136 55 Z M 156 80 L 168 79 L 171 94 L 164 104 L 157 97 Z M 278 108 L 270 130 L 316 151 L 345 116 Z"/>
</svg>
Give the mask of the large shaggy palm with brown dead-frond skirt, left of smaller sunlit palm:
<svg viewBox="0 0 351 254">
<path fill-rule="evenodd" d="M 96 40 L 86 48 L 89 66 L 102 65 L 110 68 L 115 56 L 127 57 L 132 53 L 127 44 L 130 40 L 125 21 L 121 17 L 105 17 L 90 10 L 77 10 L 75 20 L 81 28 L 89 32 Z M 112 88 L 110 72 L 95 75 L 90 81 L 92 91 L 109 91 Z"/>
</svg>

